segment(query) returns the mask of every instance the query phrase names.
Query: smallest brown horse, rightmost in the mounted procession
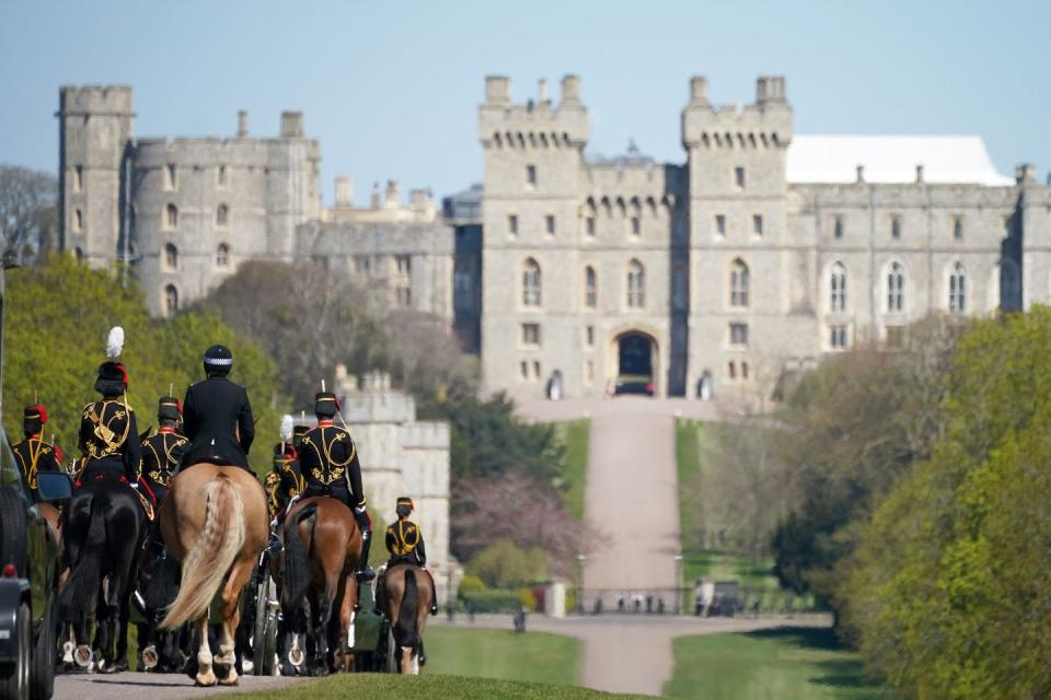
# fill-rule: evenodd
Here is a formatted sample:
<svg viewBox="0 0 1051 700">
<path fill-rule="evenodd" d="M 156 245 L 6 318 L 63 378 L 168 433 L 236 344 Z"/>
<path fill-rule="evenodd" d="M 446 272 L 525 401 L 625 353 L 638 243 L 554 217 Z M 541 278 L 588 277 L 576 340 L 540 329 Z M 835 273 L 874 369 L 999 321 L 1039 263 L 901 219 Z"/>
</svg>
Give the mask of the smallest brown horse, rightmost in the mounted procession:
<svg viewBox="0 0 1051 700">
<path fill-rule="evenodd" d="M 383 574 L 382 595 L 394 635 L 397 670 L 419 675 L 419 650 L 431 604 L 428 574 L 415 564 L 395 564 Z"/>
</svg>

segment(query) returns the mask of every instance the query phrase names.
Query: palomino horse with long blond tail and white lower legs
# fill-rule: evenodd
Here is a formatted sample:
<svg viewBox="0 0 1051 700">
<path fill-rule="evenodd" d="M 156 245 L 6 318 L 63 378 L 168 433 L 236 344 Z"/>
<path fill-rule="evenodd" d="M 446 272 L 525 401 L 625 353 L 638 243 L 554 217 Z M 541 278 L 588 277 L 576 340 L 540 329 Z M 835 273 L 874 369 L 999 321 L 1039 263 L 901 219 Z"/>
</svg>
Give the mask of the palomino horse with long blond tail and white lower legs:
<svg viewBox="0 0 1051 700">
<path fill-rule="evenodd" d="M 208 463 L 180 471 L 169 487 L 161 506 L 161 536 L 169 552 L 182 562 L 182 581 L 161 627 L 174 629 L 196 621 L 197 685 L 236 685 L 238 598 L 266 547 L 266 494 L 249 470 Z M 222 633 L 219 655 L 212 657 L 208 608 L 220 586 Z"/>
</svg>

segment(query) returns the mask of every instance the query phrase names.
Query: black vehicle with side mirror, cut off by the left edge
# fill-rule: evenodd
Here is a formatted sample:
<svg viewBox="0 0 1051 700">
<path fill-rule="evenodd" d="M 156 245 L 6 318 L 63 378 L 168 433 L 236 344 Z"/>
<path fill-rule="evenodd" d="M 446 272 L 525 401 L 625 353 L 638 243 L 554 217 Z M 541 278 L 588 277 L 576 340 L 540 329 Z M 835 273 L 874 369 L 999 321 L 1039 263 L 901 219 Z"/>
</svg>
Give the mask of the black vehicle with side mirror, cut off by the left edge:
<svg viewBox="0 0 1051 700">
<path fill-rule="evenodd" d="M 3 366 L 0 270 L 0 377 Z M 47 700 L 55 687 L 58 542 L 30 497 L 0 428 L 0 700 Z M 69 499 L 62 472 L 37 478 L 41 501 Z"/>
</svg>

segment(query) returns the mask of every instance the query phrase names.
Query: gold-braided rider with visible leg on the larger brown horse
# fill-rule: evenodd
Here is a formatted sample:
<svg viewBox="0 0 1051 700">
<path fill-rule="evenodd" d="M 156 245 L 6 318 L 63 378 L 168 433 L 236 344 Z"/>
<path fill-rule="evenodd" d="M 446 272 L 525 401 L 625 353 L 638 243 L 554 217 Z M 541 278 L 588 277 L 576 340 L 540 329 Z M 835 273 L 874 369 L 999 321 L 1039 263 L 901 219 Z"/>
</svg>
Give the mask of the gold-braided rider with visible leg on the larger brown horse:
<svg viewBox="0 0 1051 700">
<path fill-rule="evenodd" d="M 372 545 L 372 521 L 365 505 L 361 488 L 361 464 L 350 434 L 333 424 L 339 402 L 332 392 L 314 396 L 317 427 L 303 435 L 299 447 L 299 468 L 303 480 L 304 499 L 330 495 L 343 501 L 361 530 L 361 558 L 358 560 L 358 581 L 370 581 L 376 574 L 369 568 Z"/>
</svg>

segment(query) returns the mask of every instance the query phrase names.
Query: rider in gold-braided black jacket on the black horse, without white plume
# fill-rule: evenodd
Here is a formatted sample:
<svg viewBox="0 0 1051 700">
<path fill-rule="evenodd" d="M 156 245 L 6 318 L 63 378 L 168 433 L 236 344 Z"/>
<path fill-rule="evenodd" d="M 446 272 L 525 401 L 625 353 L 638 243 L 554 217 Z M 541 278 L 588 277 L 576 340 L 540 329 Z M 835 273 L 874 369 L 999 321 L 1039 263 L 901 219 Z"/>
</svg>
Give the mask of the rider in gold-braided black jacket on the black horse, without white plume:
<svg viewBox="0 0 1051 700">
<path fill-rule="evenodd" d="M 99 365 L 95 390 L 102 400 L 88 404 L 80 419 L 80 451 L 84 455 L 77 486 L 106 478 L 136 485 L 142 446 L 135 411 L 128 406 L 128 371 L 108 360 Z"/>
</svg>

